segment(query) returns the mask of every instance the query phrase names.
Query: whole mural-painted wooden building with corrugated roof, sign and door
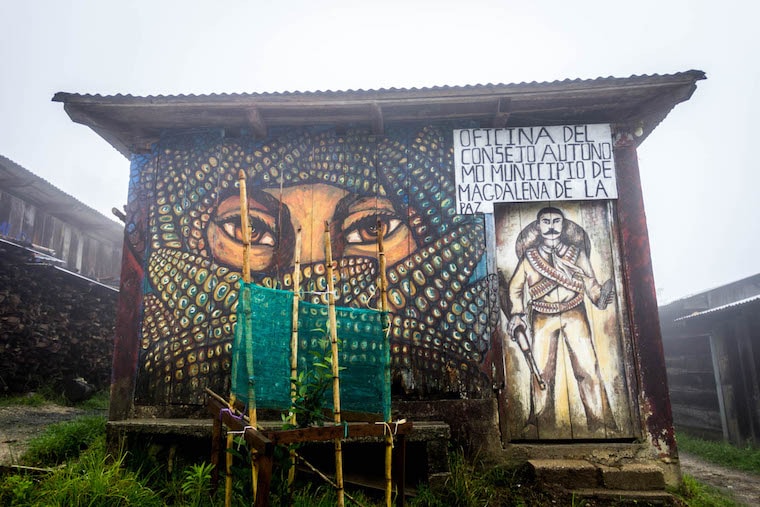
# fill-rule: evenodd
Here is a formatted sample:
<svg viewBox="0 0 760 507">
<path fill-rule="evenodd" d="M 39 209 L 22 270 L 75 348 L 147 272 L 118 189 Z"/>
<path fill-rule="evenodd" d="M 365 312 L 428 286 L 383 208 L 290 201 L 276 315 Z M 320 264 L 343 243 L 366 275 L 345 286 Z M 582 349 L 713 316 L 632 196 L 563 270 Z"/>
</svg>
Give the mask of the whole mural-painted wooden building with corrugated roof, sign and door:
<svg viewBox="0 0 760 507">
<path fill-rule="evenodd" d="M 676 483 L 636 148 L 700 79 L 57 94 L 132 163 L 112 424 L 229 392 L 242 171 L 257 285 L 326 304 L 329 222 L 335 304 L 378 309 L 382 231 L 395 414 L 490 459 L 589 464 L 589 487 L 627 463 Z"/>
</svg>

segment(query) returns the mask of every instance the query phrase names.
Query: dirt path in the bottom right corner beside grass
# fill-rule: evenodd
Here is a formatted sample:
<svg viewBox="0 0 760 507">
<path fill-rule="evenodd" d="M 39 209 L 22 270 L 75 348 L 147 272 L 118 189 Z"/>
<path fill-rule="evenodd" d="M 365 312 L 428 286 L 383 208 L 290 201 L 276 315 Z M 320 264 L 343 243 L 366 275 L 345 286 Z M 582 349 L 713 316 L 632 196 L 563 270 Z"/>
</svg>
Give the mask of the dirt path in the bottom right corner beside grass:
<svg viewBox="0 0 760 507">
<path fill-rule="evenodd" d="M 744 505 L 760 505 L 760 475 L 714 465 L 683 451 L 678 454 L 681 473 L 729 493 Z"/>
</svg>

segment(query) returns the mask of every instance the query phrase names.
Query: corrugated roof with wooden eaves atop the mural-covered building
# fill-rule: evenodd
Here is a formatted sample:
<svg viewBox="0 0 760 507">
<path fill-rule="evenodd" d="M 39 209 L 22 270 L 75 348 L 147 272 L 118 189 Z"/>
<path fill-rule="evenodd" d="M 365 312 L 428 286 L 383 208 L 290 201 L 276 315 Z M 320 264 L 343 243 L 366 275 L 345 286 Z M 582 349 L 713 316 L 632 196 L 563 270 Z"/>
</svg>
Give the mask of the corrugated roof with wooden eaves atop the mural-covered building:
<svg viewBox="0 0 760 507">
<path fill-rule="evenodd" d="M 247 130 L 332 125 L 370 128 L 410 122 L 479 122 L 488 127 L 609 123 L 643 141 L 678 103 L 688 100 L 702 71 L 627 78 L 385 88 L 378 90 L 225 93 L 208 95 L 90 95 L 59 92 L 75 122 L 92 128 L 129 157 L 148 151 L 173 129 Z"/>
</svg>

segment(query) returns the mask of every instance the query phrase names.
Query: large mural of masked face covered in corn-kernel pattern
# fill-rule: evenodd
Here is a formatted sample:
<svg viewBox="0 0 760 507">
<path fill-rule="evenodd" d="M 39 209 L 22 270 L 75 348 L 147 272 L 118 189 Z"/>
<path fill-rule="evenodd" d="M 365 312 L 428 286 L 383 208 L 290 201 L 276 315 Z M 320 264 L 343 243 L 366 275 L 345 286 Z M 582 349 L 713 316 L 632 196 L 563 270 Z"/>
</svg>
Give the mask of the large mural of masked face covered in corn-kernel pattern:
<svg viewBox="0 0 760 507">
<path fill-rule="evenodd" d="M 229 389 L 242 265 L 240 169 L 255 283 L 293 289 L 300 228 L 301 290 L 326 302 L 329 222 L 337 304 L 377 307 L 379 221 L 397 390 L 478 396 L 487 389 L 482 365 L 497 312 L 478 270 L 484 227 L 479 217 L 455 213 L 442 130 L 292 131 L 263 142 L 195 134 L 162 140 L 152 164 L 140 183 L 151 207 L 138 403 L 199 403 L 204 387 Z"/>
</svg>

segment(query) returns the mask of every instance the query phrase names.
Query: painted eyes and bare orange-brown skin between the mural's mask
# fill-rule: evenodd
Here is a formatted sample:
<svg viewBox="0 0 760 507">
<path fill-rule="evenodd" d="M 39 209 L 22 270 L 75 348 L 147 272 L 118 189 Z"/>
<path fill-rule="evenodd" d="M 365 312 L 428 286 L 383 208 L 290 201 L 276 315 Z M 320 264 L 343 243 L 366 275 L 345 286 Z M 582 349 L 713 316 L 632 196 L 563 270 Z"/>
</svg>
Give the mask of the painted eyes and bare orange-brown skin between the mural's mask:
<svg viewBox="0 0 760 507">
<path fill-rule="evenodd" d="M 278 263 L 292 265 L 293 250 L 282 251 L 281 234 L 286 238 L 302 231 L 301 262 L 324 263 L 324 226 L 330 223 L 340 254 L 347 257 L 377 255 L 378 221 L 383 231 L 386 260 L 396 263 L 417 249 L 416 242 L 398 215 L 393 203 L 384 197 L 360 197 L 332 185 L 317 183 L 254 191 L 248 199 L 251 224 L 250 260 L 252 273 L 262 272 Z M 284 233 L 283 229 L 286 229 Z M 211 252 L 222 263 L 242 267 L 243 243 L 240 230 L 240 198 L 223 200 L 208 225 Z M 278 259 L 279 258 L 279 259 Z"/>
</svg>

